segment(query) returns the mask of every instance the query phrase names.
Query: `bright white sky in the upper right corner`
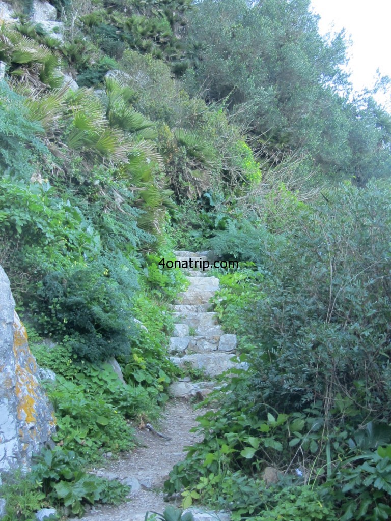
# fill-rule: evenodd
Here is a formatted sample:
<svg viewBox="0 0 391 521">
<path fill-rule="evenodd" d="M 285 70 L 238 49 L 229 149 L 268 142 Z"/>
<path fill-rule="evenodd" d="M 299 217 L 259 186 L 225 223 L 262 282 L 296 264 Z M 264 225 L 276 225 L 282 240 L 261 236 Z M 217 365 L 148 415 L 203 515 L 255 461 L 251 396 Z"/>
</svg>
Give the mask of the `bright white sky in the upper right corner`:
<svg viewBox="0 0 391 521">
<path fill-rule="evenodd" d="M 349 49 L 351 81 L 356 90 L 371 88 L 376 69 L 391 77 L 391 0 L 311 0 L 321 16 L 322 34 L 345 28 L 353 41 Z M 391 102 L 391 93 L 383 103 Z"/>
</svg>

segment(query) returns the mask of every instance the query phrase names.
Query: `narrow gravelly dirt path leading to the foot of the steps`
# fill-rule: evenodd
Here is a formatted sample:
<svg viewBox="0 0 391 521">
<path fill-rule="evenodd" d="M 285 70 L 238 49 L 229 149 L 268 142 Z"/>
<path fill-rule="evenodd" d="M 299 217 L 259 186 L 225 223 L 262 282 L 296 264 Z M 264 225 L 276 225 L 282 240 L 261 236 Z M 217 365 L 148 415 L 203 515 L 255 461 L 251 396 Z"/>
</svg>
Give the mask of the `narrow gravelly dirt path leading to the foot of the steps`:
<svg viewBox="0 0 391 521">
<path fill-rule="evenodd" d="M 183 449 L 200 439 L 189 430 L 196 425 L 196 417 L 202 411 L 193 411 L 188 402 L 170 401 L 158 431 L 170 437 L 161 438 L 148 429 L 137 429 L 136 435 L 145 446 L 141 446 L 117 461 L 104 460 L 96 470 L 104 470 L 120 479 L 134 476 L 142 489 L 132 495 L 128 503 L 118 507 L 95 507 L 81 521 L 144 521 L 147 511 L 163 512 L 168 504 L 180 506 L 180 498 L 167 503 L 163 500 L 162 486 L 175 463 L 184 458 Z M 156 427 L 156 426 L 154 426 Z M 114 476 L 112 476 L 114 477 Z"/>
</svg>

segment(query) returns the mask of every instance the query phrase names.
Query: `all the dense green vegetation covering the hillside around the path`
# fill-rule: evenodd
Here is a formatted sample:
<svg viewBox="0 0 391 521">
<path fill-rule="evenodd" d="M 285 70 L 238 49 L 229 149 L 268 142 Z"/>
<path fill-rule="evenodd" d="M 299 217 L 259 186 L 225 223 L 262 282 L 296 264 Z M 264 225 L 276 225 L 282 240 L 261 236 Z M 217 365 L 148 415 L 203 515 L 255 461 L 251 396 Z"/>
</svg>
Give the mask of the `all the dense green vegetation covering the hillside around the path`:
<svg viewBox="0 0 391 521">
<path fill-rule="evenodd" d="M 215 309 L 249 369 L 167 492 L 234 519 L 388 519 L 391 117 L 352 93 L 344 34 L 307 0 L 60 0 L 61 41 L 30 4 L 0 26 L 0 264 L 58 430 L 3 487 L 7 519 L 123 498 L 81 468 L 167 400 L 184 278 L 158 259 L 197 247 L 240 261 Z"/>
</svg>

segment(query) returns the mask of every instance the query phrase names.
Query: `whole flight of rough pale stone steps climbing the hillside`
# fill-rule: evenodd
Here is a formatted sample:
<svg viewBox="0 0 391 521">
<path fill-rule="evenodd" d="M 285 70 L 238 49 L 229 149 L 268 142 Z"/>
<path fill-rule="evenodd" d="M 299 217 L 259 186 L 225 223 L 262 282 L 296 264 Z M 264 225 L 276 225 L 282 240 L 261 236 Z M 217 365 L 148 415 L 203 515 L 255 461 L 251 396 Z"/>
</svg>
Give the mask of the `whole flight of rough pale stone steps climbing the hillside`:
<svg viewBox="0 0 391 521">
<path fill-rule="evenodd" d="M 207 252 L 174 253 L 182 262 L 190 258 L 208 259 Z M 172 355 L 170 359 L 180 368 L 185 369 L 189 364 L 213 379 L 228 369 L 240 367 L 231 360 L 236 351 L 236 334 L 225 334 L 217 324 L 216 313 L 209 311 L 210 300 L 218 289 L 218 279 L 199 269 L 187 270 L 187 279 L 190 286 L 178 293 L 173 306 L 175 329 L 168 348 Z M 170 394 L 187 400 L 194 396 L 204 398 L 215 387 L 215 381 L 192 382 L 190 377 L 185 377 L 171 384 Z"/>
</svg>

